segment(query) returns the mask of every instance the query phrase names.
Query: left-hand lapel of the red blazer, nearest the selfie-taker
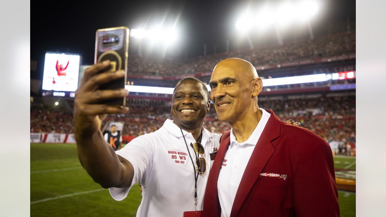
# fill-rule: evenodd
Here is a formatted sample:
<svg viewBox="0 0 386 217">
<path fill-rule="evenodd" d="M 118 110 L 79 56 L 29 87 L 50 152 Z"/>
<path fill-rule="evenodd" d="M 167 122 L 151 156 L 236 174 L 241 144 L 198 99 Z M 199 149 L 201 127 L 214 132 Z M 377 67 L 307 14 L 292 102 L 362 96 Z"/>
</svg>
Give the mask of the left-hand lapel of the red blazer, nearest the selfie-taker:
<svg viewBox="0 0 386 217">
<path fill-rule="evenodd" d="M 223 134 L 223 141 L 220 143 L 220 147 L 218 148 L 217 155 L 214 159 L 212 168 L 210 169 L 207 188 L 205 189 L 205 197 L 204 197 L 204 216 L 220 216 L 221 207 L 218 202 L 218 192 L 217 192 L 217 179 L 218 174 L 220 173 L 222 161 L 225 157 L 225 153 L 227 153 L 230 137 L 230 131 L 227 131 Z"/>
</svg>

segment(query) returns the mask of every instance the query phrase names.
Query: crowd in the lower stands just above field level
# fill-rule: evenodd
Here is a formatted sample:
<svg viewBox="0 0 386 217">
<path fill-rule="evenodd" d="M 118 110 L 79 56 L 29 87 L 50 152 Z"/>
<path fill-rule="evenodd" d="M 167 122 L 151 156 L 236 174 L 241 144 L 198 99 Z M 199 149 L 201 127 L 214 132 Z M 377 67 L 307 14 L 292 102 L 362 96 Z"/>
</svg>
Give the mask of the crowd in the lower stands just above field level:
<svg viewBox="0 0 386 217">
<path fill-rule="evenodd" d="M 355 142 L 355 96 L 321 97 L 285 100 L 260 100 L 261 108 L 270 109 L 285 121 L 294 119 L 302 127 L 310 129 L 326 141 Z M 110 121 L 125 123 L 123 136 L 131 138 L 154 132 L 166 119 L 171 119 L 170 106 L 129 105 L 125 115 L 108 115 L 102 129 Z M 208 112 L 204 127 L 212 132 L 223 133 L 230 129 L 226 123 L 217 120 L 213 108 Z M 34 108 L 30 112 L 30 132 L 73 133 L 73 115 L 68 112 Z M 128 142 L 128 141 L 124 141 Z"/>
</svg>

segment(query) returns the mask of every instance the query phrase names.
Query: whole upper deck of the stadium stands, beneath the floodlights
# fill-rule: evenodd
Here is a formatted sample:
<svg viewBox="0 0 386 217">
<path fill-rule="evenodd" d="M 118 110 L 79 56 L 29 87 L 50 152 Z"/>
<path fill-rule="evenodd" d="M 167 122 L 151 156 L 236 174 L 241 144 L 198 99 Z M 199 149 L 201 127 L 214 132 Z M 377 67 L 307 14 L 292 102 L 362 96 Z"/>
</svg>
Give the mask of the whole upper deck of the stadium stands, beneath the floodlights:
<svg viewBox="0 0 386 217">
<path fill-rule="evenodd" d="M 154 58 L 130 56 L 129 78 L 147 78 L 153 80 L 178 80 L 179 76 L 208 76 L 219 61 L 226 58 L 241 58 L 251 62 L 257 70 L 267 71 L 283 67 L 309 64 L 333 63 L 348 61 L 345 65 L 354 67 L 356 52 L 355 32 L 341 33 L 298 41 L 286 42 L 283 45 L 271 44 L 225 53 L 199 56 L 196 58 Z M 327 64 L 337 67 L 336 64 Z M 341 63 L 340 63 L 341 65 Z M 344 65 L 344 66 L 345 66 Z M 343 67 L 344 67 L 343 66 Z M 201 73 L 201 74 L 200 74 Z M 271 75 L 272 76 L 272 75 Z"/>
</svg>

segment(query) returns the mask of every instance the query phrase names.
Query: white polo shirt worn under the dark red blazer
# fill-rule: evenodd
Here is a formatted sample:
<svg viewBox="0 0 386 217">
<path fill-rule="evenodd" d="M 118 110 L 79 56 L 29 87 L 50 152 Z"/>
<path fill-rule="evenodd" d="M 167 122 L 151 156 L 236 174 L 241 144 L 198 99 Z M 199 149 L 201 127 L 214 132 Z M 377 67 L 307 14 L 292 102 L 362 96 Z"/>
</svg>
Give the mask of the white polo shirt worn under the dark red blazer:
<svg viewBox="0 0 386 217">
<path fill-rule="evenodd" d="M 230 146 L 227 153 L 225 153 L 217 180 L 218 199 L 220 200 L 222 217 L 230 216 L 233 201 L 235 200 L 237 189 L 239 188 L 249 158 L 251 158 L 256 143 L 269 117 L 271 117 L 271 114 L 266 110 L 262 108 L 260 108 L 260 110 L 262 117 L 247 141 L 237 142 L 233 129 L 230 129 Z"/>
</svg>

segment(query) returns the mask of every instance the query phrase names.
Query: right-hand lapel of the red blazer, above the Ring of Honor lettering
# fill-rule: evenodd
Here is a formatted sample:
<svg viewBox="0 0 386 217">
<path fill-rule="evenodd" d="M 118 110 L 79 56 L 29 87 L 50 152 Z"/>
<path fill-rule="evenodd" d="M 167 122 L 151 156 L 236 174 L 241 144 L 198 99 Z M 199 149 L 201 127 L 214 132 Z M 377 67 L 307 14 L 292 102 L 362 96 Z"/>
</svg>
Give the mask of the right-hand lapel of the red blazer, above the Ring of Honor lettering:
<svg viewBox="0 0 386 217">
<path fill-rule="evenodd" d="M 271 141 L 280 135 L 280 120 L 272 111 L 267 110 L 267 112 L 271 113 L 271 117 L 268 119 L 268 122 L 257 141 L 256 147 L 252 152 L 247 167 L 245 168 L 233 202 L 230 217 L 235 217 L 237 215 L 245 198 L 259 178 L 262 169 L 275 152 Z"/>
</svg>

